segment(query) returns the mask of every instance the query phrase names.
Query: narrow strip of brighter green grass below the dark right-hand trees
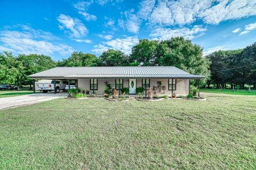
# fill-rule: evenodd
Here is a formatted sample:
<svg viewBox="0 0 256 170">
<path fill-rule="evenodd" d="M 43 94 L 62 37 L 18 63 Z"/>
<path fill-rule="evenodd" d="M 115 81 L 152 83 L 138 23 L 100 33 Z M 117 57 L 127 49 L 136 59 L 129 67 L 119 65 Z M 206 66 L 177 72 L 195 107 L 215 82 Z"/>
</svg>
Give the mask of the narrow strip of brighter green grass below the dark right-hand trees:
<svg viewBox="0 0 256 170">
<path fill-rule="evenodd" d="M 210 92 L 210 93 L 214 93 L 214 94 L 229 94 L 229 95 L 255 95 L 256 96 L 256 90 L 251 90 L 251 92 L 249 93 L 248 90 L 235 90 L 234 92 L 231 89 L 222 89 L 222 91 L 220 91 L 220 89 L 200 89 L 201 92 Z"/>
</svg>

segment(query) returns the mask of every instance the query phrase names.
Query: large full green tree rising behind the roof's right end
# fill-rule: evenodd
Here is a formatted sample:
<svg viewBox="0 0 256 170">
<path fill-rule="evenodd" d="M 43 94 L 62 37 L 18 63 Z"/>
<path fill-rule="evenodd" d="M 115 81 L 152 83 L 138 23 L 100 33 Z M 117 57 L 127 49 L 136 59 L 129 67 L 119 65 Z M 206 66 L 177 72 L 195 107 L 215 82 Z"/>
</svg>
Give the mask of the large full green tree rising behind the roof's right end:
<svg viewBox="0 0 256 170">
<path fill-rule="evenodd" d="M 190 74 L 204 75 L 205 83 L 210 79 L 210 61 L 203 57 L 203 48 L 183 37 L 163 40 L 157 47 L 155 65 L 176 66 Z"/>
</svg>

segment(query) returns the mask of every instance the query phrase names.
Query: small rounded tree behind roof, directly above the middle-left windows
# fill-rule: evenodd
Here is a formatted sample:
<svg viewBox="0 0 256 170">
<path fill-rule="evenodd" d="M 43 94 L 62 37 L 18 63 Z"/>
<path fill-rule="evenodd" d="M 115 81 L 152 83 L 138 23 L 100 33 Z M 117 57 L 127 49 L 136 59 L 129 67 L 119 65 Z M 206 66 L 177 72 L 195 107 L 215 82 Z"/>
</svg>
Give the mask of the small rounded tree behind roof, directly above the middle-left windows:
<svg viewBox="0 0 256 170">
<path fill-rule="evenodd" d="M 98 66 L 126 66 L 128 57 L 121 50 L 109 49 L 103 52 L 98 60 Z"/>
</svg>

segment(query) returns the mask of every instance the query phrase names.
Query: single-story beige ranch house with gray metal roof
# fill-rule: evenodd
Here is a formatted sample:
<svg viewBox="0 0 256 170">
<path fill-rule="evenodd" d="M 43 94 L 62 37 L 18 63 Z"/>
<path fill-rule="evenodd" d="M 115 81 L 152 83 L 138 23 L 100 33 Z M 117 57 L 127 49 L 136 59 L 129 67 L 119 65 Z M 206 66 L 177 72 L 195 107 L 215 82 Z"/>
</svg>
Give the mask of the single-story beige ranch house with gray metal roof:
<svg viewBox="0 0 256 170">
<path fill-rule="evenodd" d="M 117 90 L 129 88 L 129 94 L 136 94 L 136 88 L 153 87 L 156 95 L 188 95 L 189 80 L 204 79 L 202 75 L 189 74 L 174 66 L 108 66 L 108 67 L 55 67 L 32 74 L 34 79 L 76 80 L 81 91 L 103 95 L 106 83 Z M 34 80 L 35 83 L 35 80 Z M 34 89 L 35 92 L 35 89 Z"/>
</svg>

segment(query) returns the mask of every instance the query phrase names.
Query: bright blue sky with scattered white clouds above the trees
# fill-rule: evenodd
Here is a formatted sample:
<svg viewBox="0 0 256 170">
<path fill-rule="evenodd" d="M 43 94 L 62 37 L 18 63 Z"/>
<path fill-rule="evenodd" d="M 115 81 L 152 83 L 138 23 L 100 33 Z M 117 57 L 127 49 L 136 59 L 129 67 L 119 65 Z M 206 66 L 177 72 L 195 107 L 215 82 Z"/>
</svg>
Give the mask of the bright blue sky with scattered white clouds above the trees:
<svg viewBox="0 0 256 170">
<path fill-rule="evenodd" d="M 256 0 L 0 0 L 0 52 L 45 54 L 114 48 L 129 54 L 139 39 L 183 36 L 204 48 L 243 48 L 256 41 Z"/>
</svg>

